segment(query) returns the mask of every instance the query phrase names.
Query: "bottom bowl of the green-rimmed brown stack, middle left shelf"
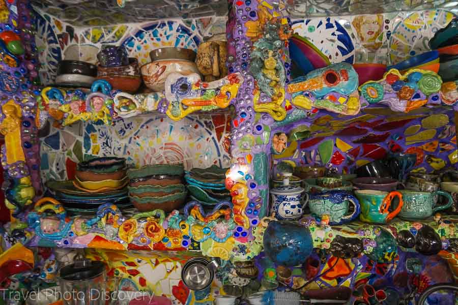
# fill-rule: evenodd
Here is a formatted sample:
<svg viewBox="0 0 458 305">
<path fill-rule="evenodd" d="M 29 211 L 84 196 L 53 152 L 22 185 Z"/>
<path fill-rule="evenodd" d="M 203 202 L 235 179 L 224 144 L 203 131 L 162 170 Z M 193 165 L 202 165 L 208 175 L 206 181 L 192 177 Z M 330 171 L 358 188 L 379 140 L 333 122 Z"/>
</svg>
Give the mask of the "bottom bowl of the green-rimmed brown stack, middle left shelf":
<svg viewBox="0 0 458 305">
<path fill-rule="evenodd" d="M 130 196 L 130 201 L 140 212 L 148 212 L 161 209 L 164 212 L 171 212 L 180 209 L 186 198 L 186 191 L 158 197 Z"/>
</svg>

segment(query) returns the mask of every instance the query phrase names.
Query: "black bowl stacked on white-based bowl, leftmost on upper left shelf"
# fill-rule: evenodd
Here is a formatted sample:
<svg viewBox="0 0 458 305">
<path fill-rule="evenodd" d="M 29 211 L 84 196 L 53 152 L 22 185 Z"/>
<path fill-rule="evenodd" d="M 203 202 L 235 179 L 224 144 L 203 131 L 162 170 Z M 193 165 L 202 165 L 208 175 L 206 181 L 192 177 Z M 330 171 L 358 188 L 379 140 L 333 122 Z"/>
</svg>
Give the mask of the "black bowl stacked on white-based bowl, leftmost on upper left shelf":
<svg viewBox="0 0 458 305">
<path fill-rule="evenodd" d="M 78 60 L 61 60 L 58 64 L 55 84 L 64 87 L 90 88 L 96 76 L 95 65 Z"/>
</svg>

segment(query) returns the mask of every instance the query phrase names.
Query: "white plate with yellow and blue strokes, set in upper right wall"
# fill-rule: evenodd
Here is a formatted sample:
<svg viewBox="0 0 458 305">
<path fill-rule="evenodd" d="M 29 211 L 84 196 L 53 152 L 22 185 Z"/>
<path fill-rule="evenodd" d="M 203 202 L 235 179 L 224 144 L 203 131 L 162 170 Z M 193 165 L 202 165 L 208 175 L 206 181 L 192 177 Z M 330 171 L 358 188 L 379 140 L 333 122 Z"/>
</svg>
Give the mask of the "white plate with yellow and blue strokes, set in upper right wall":
<svg viewBox="0 0 458 305">
<path fill-rule="evenodd" d="M 388 52 L 392 64 L 430 51 L 428 42 L 455 14 L 446 10 L 425 10 L 409 15 L 393 29 Z"/>
</svg>

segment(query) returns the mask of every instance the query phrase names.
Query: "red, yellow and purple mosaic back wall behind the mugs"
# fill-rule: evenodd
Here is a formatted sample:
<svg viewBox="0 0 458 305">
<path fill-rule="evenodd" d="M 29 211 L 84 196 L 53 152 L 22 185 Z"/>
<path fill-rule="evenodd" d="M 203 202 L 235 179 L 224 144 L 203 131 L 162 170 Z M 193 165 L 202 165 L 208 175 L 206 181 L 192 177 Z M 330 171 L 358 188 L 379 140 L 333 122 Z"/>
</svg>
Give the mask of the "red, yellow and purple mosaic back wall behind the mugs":
<svg viewBox="0 0 458 305">
<path fill-rule="evenodd" d="M 389 153 L 404 151 L 417 155 L 418 172 L 456 166 L 453 118 L 453 110 L 447 107 L 420 108 L 409 114 L 365 108 L 347 121 L 336 115 L 318 114 L 309 125 L 311 137 L 290 142 L 292 149 L 274 156 L 274 163 L 293 160 L 298 165 L 327 164 L 350 173 Z M 291 129 L 303 124 L 296 123 Z"/>
</svg>

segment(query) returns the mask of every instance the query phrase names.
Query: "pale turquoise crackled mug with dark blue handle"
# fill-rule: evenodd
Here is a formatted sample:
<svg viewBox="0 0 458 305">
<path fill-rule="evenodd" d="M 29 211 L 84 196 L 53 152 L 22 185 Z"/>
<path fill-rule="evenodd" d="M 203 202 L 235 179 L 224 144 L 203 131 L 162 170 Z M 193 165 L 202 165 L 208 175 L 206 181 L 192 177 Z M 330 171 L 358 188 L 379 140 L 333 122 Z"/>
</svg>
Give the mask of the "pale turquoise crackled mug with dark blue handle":
<svg viewBox="0 0 458 305">
<path fill-rule="evenodd" d="M 349 214 L 350 204 L 353 204 L 353 212 Z M 327 191 L 317 195 L 310 195 L 308 201 L 310 212 L 314 216 L 329 217 L 329 224 L 338 225 L 355 220 L 360 211 L 358 199 L 344 191 Z"/>
</svg>

